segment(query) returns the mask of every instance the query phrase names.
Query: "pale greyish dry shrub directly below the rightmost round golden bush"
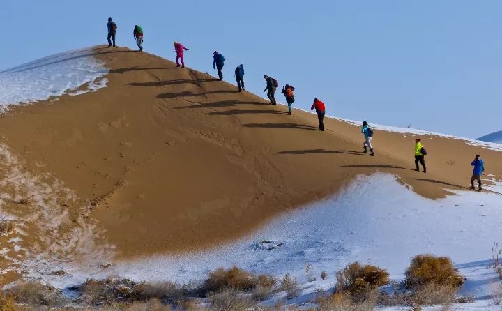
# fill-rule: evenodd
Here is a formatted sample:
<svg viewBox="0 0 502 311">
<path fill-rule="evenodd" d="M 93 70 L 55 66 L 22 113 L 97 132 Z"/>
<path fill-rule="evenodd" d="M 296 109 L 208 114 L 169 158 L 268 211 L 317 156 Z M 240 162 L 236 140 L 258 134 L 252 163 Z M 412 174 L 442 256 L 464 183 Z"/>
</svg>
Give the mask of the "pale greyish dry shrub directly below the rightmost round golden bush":
<svg viewBox="0 0 502 311">
<path fill-rule="evenodd" d="M 457 287 L 450 284 L 429 283 L 416 288 L 411 295 L 411 304 L 423 305 L 450 305 L 455 303 Z"/>
</svg>

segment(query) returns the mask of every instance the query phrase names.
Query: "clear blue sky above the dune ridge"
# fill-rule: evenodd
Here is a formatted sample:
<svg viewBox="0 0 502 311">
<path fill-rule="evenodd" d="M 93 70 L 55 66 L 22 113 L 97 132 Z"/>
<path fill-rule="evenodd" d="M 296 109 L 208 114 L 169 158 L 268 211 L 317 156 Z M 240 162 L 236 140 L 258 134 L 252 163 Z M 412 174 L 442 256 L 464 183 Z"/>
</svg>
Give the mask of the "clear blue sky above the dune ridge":
<svg viewBox="0 0 502 311">
<path fill-rule="evenodd" d="M 262 94 L 266 73 L 296 87 L 296 107 L 314 97 L 327 114 L 476 138 L 501 130 L 502 1 L 6 0 L 0 10 L 0 68 L 106 43 L 174 58 L 225 80 L 244 64 L 247 89 Z M 282 94 L 277 94 L 282 98 Z"/>
</svg>

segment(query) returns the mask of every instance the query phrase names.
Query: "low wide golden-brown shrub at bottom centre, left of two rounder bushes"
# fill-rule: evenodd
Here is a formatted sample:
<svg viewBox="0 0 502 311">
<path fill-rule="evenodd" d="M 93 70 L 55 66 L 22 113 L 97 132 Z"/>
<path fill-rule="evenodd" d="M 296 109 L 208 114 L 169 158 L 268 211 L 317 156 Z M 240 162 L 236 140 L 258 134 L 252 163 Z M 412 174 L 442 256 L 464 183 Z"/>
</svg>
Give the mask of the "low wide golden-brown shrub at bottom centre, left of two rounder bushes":
<svg viewBox="0 0 502 311">
<path fill-rule="evenodd" d="M 256 287 L 272 288 L 277 280 L 268 275 L 254 275 L 248 271 L 234 266 L 233 268 L 218 268 L 209 273 L 209 278 L 204 282 L 204 291 L 207 293 L 223 289 L 237 291 L 250 291 Z"/>
</svg>

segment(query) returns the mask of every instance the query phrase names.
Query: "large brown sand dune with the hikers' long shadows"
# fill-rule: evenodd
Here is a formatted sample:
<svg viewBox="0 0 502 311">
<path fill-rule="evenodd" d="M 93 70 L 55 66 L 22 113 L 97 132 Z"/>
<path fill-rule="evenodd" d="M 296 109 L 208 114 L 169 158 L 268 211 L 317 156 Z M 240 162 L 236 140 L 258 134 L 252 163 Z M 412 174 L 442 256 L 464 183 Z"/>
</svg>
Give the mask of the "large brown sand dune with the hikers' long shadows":
<svg viewBox="0 0 502 311">
<path fill-rule="evenodd" d="M 64 203 L 67 222 L 83 215 L 96 223 L 121 258 L 232 240 L 358 174 L 396 174 L 419 195 L 439 198 L 469 185 L 480 153 L 487 173 L 502 179 L 499 151 L 461 139 L 422 137 L 423 174 L 413 171 L 413 135 L 377 130 L 377 155 L 366 156 L 358 126 L 330 119 L 319 132 L 313 114 L 288 116 L 282 105 L 158 56 L 94 52 L 109 68 L 106 88 L 12 107 L 0 132 L 24 169 L 50 173 L 74 193 Z M 15 214 L 15 204 L 4 207 Z"/>
</svg>

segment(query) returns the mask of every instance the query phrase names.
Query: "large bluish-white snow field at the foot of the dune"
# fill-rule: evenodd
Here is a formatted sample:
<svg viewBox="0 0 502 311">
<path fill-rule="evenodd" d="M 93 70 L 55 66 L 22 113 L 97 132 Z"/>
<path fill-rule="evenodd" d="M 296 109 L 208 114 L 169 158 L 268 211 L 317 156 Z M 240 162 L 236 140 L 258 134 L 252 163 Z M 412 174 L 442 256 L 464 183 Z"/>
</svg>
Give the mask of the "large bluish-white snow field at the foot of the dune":
<svg viewBox="0 0 502 311">
<path fill-rule="evenodd" d="M 186 282 L 236 265 L 277 276 L 291 273 L 307 298 L 316 289 L 330 289 L 335 272 L 350 262 L 376 264 L 400 280 L 411 257 L 430 252 L 451 257 L 468 276 L 463 294 L 486 300 L 499 285 L 487 266 L 492 243 L 502 237 L 501 220 L 498 194 L 457 192 L 426 199 L 396 176 L 377 173 L 359 176 L 335 197 L 284 213 L 254 234 L 212 251 L 138 258 L 105 269 L 98 263 L 94 268 L 67 265 L 66 277 L 43 278 L 58 287 L 109 275 Z M 319 280 L 324 270 L 328 278 Z"/>
</svg>

